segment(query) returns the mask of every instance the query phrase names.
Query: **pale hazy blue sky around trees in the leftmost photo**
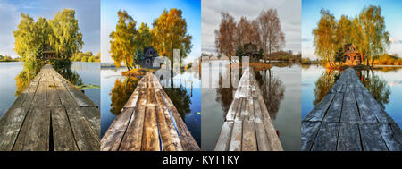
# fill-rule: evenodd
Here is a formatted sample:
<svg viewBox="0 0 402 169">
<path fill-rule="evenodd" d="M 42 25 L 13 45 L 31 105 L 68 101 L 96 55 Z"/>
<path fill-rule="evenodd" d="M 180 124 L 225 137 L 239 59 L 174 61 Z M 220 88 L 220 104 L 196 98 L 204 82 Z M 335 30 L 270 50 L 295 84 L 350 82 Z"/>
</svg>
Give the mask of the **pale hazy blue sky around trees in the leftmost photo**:
<svg viewBox="0 0 402 169">
<path fill-rule="evenodd" d="M 18 56 L 13 50 L 13 30 L 17 30 L 21 13 L 28 13 L 35 20 L 38 17 L 53 19 L 54 14 L 64 8 L 75 9 L 84 41 L 81 50 L 96 55 L 100 44 L 99 0 L 0 0 L 0 55 Z"/>
</svg>

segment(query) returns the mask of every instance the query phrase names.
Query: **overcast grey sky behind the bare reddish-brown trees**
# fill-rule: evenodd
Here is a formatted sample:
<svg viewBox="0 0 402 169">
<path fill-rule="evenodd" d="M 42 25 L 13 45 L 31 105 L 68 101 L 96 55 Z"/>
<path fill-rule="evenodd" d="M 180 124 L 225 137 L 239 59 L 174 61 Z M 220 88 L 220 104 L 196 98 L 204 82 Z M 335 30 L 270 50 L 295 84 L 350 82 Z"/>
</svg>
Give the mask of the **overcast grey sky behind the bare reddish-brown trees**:
<svg viewBox="0 0 402 169">
<path fill-rule="evenodd" d="M 214 53 L 214 30 L 221 21 L 221 12 L 228 12 L 239 21 L 241 16 L 254 20 L 262 10 L 278 10 L 286 45 L 283 50 L 300 53 L 301 50 L 301 2 L 300 0 L 203 0 L 201 1 L 201 50 Z"/>
</svg>

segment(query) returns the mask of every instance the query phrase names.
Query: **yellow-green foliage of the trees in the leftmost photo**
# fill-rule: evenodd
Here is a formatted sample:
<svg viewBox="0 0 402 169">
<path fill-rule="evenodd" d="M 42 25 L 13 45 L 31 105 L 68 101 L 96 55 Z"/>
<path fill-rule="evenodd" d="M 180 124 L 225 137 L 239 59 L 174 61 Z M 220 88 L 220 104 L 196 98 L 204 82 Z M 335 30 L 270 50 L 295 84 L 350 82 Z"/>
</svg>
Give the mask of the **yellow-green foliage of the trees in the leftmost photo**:
<svg viewBox="0 0 402 169">
<path fill-rule="evenodd" d="M 53 20 L 38 18 L 34 21 L 29 14 L 21 13 L 18 29 L 13 31 L 14 51 L 23 61 L 36 60 L 44 51 L 55 51 L 60 58 L 70 58 L 83 45 L 75 11 L 64 9 L 55 14 Z"/>
</svg>

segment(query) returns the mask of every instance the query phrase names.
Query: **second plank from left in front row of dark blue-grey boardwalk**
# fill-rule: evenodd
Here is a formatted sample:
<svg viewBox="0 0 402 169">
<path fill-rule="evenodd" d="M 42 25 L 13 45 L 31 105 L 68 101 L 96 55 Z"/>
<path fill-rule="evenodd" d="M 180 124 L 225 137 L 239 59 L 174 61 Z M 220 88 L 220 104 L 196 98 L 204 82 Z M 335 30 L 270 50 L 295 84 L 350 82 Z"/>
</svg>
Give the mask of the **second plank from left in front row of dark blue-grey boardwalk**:
<svg viewBox="0 0 402 169">
<path fill-rule="evenodd" d="M 312 151 L 335 151 L 338 142 L 339 123 L 322 123 L 314 140 Z"/>
</svg>

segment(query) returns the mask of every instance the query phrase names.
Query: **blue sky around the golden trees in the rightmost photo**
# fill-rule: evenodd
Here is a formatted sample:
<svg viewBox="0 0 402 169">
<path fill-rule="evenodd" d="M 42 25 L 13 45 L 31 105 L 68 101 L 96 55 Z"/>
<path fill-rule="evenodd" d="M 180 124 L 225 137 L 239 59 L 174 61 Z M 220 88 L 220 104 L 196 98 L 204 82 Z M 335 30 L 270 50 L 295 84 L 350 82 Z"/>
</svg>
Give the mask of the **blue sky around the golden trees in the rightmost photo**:
<svg viewBox="0 0 402 169">
<path fill-rule="evenodd" d="M 312 30 L 320 20 L 322 8 L 339 19 L 342 14 L 356 17 L 365 6 L 380 5 L 381 14 L 385 18 L 386 29 L 389 31 L 392 43 L 389 46 L 390 54 L 402 56 L 402 1 L 398 0 L 303 0 L 302 1 L 302 55 L 315 59 Z"/>
</svg>

